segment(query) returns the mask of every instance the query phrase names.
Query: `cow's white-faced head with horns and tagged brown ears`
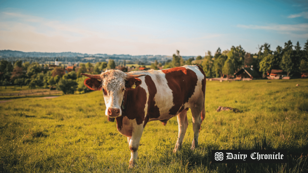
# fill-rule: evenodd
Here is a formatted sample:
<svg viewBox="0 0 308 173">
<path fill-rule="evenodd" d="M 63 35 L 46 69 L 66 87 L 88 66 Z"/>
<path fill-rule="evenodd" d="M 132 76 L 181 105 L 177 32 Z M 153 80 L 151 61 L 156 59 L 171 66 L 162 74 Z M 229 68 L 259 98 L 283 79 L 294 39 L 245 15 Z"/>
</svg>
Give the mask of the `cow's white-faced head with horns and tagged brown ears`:
<svg viewBox="0 0 308 173">
<path fill-rule="evenodd" d="M 103 91 L 106 105 L 105 115 L 118 117 L 122 115 L 121 104 L 125 89 L 131 88 L 134 84 L 139 86 L 141 80 L 138 78 L 145 74 L 132 75 L 120 70 L 107 70 L 101 74 L 82 73 L 82 75 L 89 77 L 84 81 L 89 89 Z"/>
</svg>

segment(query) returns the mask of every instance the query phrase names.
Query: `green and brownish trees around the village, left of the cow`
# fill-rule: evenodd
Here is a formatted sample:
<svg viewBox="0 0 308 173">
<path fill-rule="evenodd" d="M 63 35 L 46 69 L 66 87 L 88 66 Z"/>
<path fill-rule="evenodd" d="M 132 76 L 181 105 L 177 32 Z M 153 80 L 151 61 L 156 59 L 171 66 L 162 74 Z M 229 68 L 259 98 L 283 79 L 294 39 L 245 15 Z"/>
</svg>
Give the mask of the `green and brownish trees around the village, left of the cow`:
<svg viewBox="0 0 308 173">
<path fill-rule="evenodd" d="M 124 63 L 125 64 L 125 63 Z M 81 73 L 100 74 L 103 70 L 114 69 L 115 62 L 80 63 L 77 68 L 66 73 L 64 66 L 56 66 L 50 69 L 47 64 L 38 62 L 23 62 L 21 60 L 11 63 L 0 61 L 0 86 L 8 85 L 29 86 L 34 88 L 50 88 L 63 91 L 64 94 L 74 94 L 75 91 L 89 92 L 83 81 L 87 78 Z"/>
</svg>

